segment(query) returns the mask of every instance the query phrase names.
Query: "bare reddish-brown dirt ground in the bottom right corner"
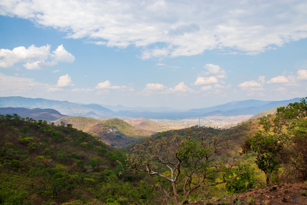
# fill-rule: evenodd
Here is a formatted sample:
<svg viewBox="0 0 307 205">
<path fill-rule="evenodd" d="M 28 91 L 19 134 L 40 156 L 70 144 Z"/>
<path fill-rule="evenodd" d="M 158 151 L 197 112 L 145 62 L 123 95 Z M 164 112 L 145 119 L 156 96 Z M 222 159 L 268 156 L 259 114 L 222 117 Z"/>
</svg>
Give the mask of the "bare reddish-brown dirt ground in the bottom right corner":
<svg viewBox="0 0 307 205">
<path fill-rule="evenodd" d="M 293 184 L 281 184 L 265 189 L 249 189 L 243 194 L 230 195 L 224 199 L 229 201 L 230 205 L 235 203 L 232 202 L 232 198 L 237 196 L 242 204 L 247 205 L 247 198 L 253 196 L 256 199 L 255 205 L 279 205 L 279 204 L 300 204 L 307 205 L 307 196 L 302 195 L 300 191 L 305 190 L 307 194 L 306 183 L 293 183 Z M 206 204 L 196 203 L 198 205 Z"/>
</svg>

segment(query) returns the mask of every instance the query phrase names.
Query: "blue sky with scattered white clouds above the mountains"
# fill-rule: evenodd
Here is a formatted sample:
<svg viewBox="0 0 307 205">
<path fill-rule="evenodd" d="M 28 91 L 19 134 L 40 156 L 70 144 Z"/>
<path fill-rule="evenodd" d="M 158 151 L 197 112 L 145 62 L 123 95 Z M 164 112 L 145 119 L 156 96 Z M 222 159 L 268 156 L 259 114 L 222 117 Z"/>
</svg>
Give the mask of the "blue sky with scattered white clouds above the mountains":
<svg viewBox="0 0 307 205">
<path fill-rule="evenodd" d="M 307 96 L 306 1 L 1 0 L 0 96 L 187 110 Z"/>
</svg>

